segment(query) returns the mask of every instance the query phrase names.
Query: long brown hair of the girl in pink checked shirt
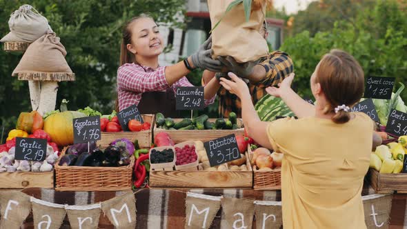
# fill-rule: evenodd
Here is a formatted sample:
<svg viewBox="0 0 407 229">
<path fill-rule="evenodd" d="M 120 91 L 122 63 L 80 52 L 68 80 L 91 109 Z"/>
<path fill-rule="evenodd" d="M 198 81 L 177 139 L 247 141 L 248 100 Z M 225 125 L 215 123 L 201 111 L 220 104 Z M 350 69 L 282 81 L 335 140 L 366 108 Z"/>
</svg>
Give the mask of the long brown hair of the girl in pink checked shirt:
<svg viewBox="0 0 407 229">
<path fill-rule="evenodd" d="M 130 25 L 137 21 L 138 19 L 142 19 L 142 18 L 150 18 L 152 19 L 152 17 L 149 14 L 140 14 L 137 17 L 133 17 L 132 19 L 130 19 L 129 21 L 126 22 L 126 24 L 124 24 L 123 29 L 122 29 L 122 38 L 121 38 L 121 46 L 120 46 L 120 64 L 119 67 L 122 66 L 125 63 L 137 63 L 136 58 L 135 58 L 135 54 L 132 54 L 132 52 L 130 52 L 127 49 L 127 45 L 128 43 L 132 43 L 132 30 L 130 28 Z M 115 104 L 115 109 L 117 110 L 117 112 L 119 112 L 119 96 L 117 96 L 116 98 L 116 104 Z"/>
</svg>

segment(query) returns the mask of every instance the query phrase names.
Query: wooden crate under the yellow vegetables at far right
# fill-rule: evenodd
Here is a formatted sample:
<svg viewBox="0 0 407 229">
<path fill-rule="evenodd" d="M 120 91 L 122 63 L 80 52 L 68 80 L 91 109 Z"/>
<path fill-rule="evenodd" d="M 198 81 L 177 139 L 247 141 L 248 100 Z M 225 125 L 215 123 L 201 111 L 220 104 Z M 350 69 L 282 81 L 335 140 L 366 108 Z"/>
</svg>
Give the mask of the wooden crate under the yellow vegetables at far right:
<svg viewBox="0 0 407 229">
<path fill-rule="evenodd" d="M 377 193 L 407 193 L 407 174 L 406 173 L 379 173 L 373 168 L 369 168 L 366 176 L 370 185 Z"/>
</svg>

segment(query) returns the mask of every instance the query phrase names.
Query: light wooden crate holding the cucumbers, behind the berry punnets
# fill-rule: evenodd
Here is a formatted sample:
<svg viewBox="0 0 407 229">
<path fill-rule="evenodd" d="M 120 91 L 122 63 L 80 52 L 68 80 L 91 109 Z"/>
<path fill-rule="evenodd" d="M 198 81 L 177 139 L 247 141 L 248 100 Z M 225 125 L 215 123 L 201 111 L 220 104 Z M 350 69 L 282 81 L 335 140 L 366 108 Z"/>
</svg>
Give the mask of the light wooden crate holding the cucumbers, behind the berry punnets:
<svg viewBox="0 0 407 229">
<path fill-rule="evenodd" d="M 174 119 L 175 123 L 181 121 L 182 119 Z M 208 119 L 208 121 L 215 122 L 216 119 Z M 225 121 L 228 119 L 225 119 Z M 243 121 L 237 119 L 237 126 L 243 126 Z M 167 132 L 170 135 L 172 141 L 176 144 L 183 141 L 210 141 L 212 139 L 217 139 L 219 137 L 225 137 L 226 135 L 244 135 L 244 128 L 239 128 L 237 130 L 164 130 L 157 128 L 157 125 L 154 122 L 154 129 L 152 134 L 154 137 L 159 132 Z M 153 139 L 154 140 L 154 139 Z"/>
</svg>

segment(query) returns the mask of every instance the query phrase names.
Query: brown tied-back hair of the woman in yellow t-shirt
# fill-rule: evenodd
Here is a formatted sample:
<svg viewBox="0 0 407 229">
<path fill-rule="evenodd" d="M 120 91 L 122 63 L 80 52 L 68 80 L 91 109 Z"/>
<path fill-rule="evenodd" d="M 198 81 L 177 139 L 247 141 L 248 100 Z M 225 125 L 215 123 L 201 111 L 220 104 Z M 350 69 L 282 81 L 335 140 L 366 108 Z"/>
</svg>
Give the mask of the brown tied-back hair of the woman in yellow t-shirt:
<svg viewBox="0 0 407 229">
<path fill-rule="evenodd" d="M 364 71 L 357 60 L 342 50 L 331 50 L 317 69 L 317 82 L 329 105 L 324 113 L 335 112 L 337 106 L 353 106 L 364 94 Z M 350 113 L 339 110 L 332 117 L 335 123 L 346 123 Z"/>
</svg>

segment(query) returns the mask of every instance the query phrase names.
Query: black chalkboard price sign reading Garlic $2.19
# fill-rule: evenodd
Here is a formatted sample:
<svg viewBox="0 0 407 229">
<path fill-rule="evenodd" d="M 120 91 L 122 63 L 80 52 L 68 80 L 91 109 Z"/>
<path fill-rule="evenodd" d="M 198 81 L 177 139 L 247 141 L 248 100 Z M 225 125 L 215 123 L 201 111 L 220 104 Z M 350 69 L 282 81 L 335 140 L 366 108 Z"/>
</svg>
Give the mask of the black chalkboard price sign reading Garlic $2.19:
<svg viewBox="0 0 407 229">
<path fill-rule="evenodd" d="M 16 160 L 43 161 L 47 155 L 46 139 L 16 137 Z"/>
</svg>

